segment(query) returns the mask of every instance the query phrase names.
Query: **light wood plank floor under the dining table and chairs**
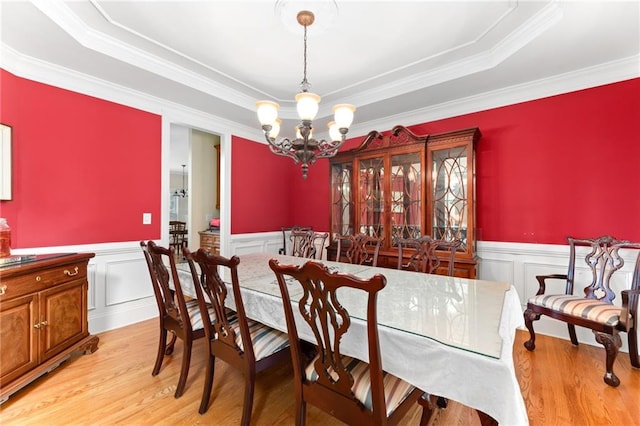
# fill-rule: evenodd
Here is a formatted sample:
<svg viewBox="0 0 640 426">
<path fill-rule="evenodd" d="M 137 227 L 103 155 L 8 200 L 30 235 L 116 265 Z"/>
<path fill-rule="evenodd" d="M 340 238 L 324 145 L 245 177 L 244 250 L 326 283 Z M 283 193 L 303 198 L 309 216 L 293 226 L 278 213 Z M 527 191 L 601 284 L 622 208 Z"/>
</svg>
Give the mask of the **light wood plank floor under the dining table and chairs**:
<svg viewBox="0 0 640 426">
<path fill-rule="evenodd" d="M 640 370 L 631 368 L 626 353 L 615 364 L 622 384 L 612 388 L 602 381 L 602 348 L 574 348 L 568 341 L 539 336 L 536 352 L 530 353 L 522 346 L 527 337 L 518 331 L 513 352 L 531 425 L 640 425 Z M 218 362 L 214 400 L 200 415 L 204 341 L 196 342 L 186 391 L 175 399 L 181 346 L 177 344 L 176 353 L 166 357 L 160 374 L 152 377 L 157 338 L 156 320 L 101 334 L 97 352 L 70 359 L 2 404 L 0 424 L 239 424 L 241 375 Z M 290 366 L 258 375 L 253 425 L 293 424 L 291 375 Z M 416 406 L 404 424 L 417 425 L 419 418 Z M 308 408 L 307 423 L 338 424 L 314 407 Z M 479 420 L 473 410 L 451 401 L 433 424 L 478 425 Z"/>
</svg>

